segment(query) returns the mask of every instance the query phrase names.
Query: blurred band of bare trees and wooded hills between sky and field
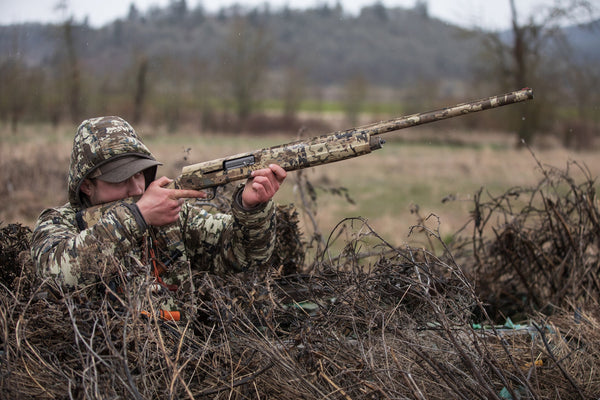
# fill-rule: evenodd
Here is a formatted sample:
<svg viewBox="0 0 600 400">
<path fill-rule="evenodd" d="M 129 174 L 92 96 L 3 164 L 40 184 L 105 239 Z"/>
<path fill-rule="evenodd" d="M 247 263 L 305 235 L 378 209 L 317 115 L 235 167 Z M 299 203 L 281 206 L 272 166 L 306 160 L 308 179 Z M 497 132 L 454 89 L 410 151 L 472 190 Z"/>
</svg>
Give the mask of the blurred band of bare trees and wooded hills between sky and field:
<svg viewBox="0 0 600 400">
<path fill-rule="evenodd" d="M 176 0 L 146 13 L 131 5 L 97 29 L 72 18 L 0 27 L 0 118 L 15 131 L 22 121 L 108 113 L 171 129 L 196 121 L 239 130 L 267 111 L 285 125 L 301 110 L 333 108 L 354 124 L 361 112 L 425 111 L 530 86 L 527 117 L 502 128 L 526 140 L 561 125 L 593 134 L 600 56 L 582 56 L 564 29 L 592 4 L 556 0 L 534 19 L 508 1 L 509 32 L 451 26 L 431 18 L 423 0 L 408 9 L 376 2 L 357 16 L 339 3 L 211 15 Z"/>
</svg>

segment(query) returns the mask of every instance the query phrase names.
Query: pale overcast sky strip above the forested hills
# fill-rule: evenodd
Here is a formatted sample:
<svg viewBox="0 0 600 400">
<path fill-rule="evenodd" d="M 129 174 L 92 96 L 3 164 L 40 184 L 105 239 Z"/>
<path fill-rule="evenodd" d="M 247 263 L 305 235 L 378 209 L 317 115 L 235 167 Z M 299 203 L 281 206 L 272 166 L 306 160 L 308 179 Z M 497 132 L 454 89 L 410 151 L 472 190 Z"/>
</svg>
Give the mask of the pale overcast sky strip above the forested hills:
<svg viewBox="0 0 600 400">
<path fill-rule="evenodd" d="M 127 15 L 129 5 L 135 3 L 140 11 L 152 6 L 164 7 L 171 0 L 63 0 L 68 6 L 65 15 L 56 9 L 61 0 L 0 0 L 0 24 L 15 22 L 58 22 L 67 15 L 82 21 L 88 17 L 94 27 L 102 26 L 116 18 Z M 416 0 L 381 0 L 386 7 L 412 7 Z M 377 0 L 340 0 L 346 12 L 357 13 L 366 5 Z M 202 4 L 208 11 L 232 4 L 248 7 L 269 3 L 277 9 L 285 5 L 291 8 L 306 8 L 317 5 L 335 5 L 336 0 L 187 0 L 189 8 Z M 522 15 L 531 15 L 539 6 L 550 5 L 552 0 L 517 0 L 517 9 Z M 600 3 L 600 0 L 592 0 Z M 504 29 L 510 23 L 509 0 L 427 0 L 429 14 L 464 27 Z"/>
</svg>

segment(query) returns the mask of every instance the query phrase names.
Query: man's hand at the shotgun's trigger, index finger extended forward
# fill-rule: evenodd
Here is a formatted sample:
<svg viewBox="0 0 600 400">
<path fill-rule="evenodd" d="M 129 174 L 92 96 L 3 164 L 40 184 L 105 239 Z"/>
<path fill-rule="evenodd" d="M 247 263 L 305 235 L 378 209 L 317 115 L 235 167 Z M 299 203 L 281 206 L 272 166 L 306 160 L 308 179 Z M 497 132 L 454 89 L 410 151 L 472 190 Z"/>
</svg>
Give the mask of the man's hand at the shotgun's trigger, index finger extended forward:
<svg viewBox="0 0 600 400">
<path fill-rule="evenodd" d="M 183 199 L 205 198 L 206 193 L 191 189 L 166 188 L 173 180 L 163 176 L 152 182 L 137 206 L 148 225 L 162 226 L 179 219 Z"/>
</svg>

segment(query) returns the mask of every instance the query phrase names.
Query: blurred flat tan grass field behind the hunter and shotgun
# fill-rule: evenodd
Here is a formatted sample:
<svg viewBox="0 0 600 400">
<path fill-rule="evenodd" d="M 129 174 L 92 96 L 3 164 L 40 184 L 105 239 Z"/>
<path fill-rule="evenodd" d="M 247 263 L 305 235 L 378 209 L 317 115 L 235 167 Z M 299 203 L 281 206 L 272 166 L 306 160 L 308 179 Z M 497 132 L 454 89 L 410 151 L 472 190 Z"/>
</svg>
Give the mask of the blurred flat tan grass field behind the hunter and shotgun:
<svg viewBox="0 0 600 400">
<path fill-rule="evenodd" d="M 511 107 L 518 107 L 513 105 Z M 494 110 L 489 111 L 495 112 Z M 44 207 L 66 202 L 66 171 L 76 127 L 38 124 L 13 135 L 0 132 L 0 221 L 33 226 Z M 164 165 L 159 175 L 175 177 L 184 165 L 275 146 L 297 139 L 284 133 L 267 136 L 194 133 L 193 128 L 168 132 L 138 128 Z M 307 130 L 303 137 L 328 132 Z M 574 151 L 559 143 L 515 148 L 513 138 L 498 132 L 461 132 L 444 122 L 384 135 L 386 144 L 369 155 L 301 172 L 316 189 L 318 229 L 328 235 L 343 218 L 363 217 L 395 245 L 410 243 L 409 228 L 419 217 L 435 214 L 445 240 L 461 228 L 473 211 L 473 196 L 500 195 L 512 187 L 533 187 L 543 177 L 537 166 L 564 168 L 569 161 L 585 164 L 592 175 L 600 171 L 595 150 Z M 298 174 L 291 172 L 276 197 L 302 211 Z M 573 171 L 574 177 L 578 171 Z M 418 213 L 415 213 L 418 211 Z M 305 216 L 306 217 L 306 216 Z M 438 226 L 439 221 L 439 226 Z M 307 218 L 304 230 L 315 227 Z"/>
</svg>

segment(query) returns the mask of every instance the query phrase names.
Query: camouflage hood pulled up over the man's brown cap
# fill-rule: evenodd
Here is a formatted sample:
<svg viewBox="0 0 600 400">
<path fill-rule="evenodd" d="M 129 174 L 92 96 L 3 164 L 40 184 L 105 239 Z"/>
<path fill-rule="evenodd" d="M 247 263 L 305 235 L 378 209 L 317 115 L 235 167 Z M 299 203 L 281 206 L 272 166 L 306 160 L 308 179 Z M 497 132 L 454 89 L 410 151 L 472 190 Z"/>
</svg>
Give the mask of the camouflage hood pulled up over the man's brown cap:
<svg viewBox="0 0 600 400">
<path fill-rule="evenodd" d="M 79 125 L 69 167 L 69 202 L 72 207 L 84 206 L 79 188 L 83 180 L 95 168 L 113 160 L 115 157 L 136 155 L 154 160 L 150 150 L 127 121 L 120 117 L 99 117 L 85 120 Z M 146 183 L 154 179 L 156 167 Z"/>
</svg>

